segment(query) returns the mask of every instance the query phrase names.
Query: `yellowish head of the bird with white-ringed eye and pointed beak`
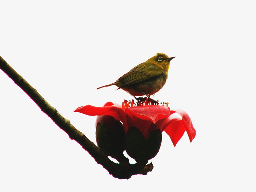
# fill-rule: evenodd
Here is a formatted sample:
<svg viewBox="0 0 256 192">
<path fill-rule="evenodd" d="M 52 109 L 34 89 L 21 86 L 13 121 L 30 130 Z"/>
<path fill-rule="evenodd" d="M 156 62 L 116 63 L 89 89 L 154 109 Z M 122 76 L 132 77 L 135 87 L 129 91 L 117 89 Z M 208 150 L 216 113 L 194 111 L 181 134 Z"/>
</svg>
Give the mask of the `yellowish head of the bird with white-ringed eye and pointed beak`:
<svg viewBox="0 0 256 192">
<path fill-rule="evenodd" d="M 151 57 L 145 63 L 153 64 L 160 69 L 162 69 L 165 73 L 168 73 L 170 67 L 170 61 L 175 57 L 168 57 L 164 53 L 157 53 L 156 56 Z"/>
</svg>

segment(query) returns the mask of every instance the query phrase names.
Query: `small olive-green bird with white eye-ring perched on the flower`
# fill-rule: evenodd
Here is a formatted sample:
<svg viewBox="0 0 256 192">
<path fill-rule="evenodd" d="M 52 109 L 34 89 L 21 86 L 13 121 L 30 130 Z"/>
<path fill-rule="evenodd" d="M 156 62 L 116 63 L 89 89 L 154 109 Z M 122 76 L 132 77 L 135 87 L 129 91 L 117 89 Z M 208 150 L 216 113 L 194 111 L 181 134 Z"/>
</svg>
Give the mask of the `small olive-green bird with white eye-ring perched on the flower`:
<svg viewBox="0 0 256 192">
<path fill-rule="evenodd" d="M 175 57 L 168 57 L 163 53 L 157 53 L 144 63 L 134 67 L 131 71 L 117 79 L 116 82 L 99 87 L 109 87 L 116 85 L 118 89 L 123 89 L 132 96 L 150 95 L 158 92 L 165 84 L 168 77 L 170 61 Z"/>
</svg>

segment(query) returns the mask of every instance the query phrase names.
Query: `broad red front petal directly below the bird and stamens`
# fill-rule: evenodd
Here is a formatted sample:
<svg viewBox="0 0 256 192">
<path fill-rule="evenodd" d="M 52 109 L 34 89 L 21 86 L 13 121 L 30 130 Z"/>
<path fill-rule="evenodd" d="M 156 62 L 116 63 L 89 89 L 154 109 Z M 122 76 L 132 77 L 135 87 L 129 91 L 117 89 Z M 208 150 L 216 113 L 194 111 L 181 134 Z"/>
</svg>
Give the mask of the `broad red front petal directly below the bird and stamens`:
<svg viewBox="0 0 256 192">
<path fill-rule="evenodd" d="M 161 105 L 145 105 L 126 108 L 125 113 L 142 120 L 149 120 L 155 124 L 158 120 L 168 117 L 170 108 Z"/>
</svg>

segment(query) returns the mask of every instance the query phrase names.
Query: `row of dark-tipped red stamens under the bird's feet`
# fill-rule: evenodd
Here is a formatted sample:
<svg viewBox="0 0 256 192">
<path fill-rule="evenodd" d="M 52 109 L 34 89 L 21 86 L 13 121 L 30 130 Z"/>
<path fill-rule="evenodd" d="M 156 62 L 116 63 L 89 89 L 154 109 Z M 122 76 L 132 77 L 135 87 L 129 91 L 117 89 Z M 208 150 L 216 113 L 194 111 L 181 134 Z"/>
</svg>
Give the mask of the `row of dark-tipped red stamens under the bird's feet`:
<svg viewBox="0 0 256 192">
<path fill-rule="evenodd" d="M 125 109 L 127 107 L 145 106 L 145 105 L 162 105 L 162 106 L 168 107 L 168 104 L 169 104 L 168 102 L 163 102 L 163 103 L 161 102 L 159 104 L 159 101 L 154 101 L 148 97 L 144 97 L 144 98 L 139 97 L 136 103 L 134 102 L 134 99 L 129 101 L 124 100 L 122 102 L 122 108 Z"/>
</svg>

